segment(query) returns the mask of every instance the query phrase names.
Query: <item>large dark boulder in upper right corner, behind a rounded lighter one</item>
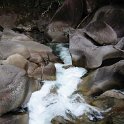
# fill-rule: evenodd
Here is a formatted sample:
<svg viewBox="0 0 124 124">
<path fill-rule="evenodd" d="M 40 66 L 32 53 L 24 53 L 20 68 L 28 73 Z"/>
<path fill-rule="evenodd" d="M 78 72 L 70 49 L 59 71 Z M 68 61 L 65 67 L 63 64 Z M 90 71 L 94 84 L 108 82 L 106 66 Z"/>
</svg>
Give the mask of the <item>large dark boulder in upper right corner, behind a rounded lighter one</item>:
<svg viewBox="0 0 124 124">
<path fill-rule="evenodd" d="M 103 21 L 110 25 L 117 37 L 124 36 L 124 8 L 123 6 L 104 6 L 97 10 L 91 22 Z"/>
</svg>

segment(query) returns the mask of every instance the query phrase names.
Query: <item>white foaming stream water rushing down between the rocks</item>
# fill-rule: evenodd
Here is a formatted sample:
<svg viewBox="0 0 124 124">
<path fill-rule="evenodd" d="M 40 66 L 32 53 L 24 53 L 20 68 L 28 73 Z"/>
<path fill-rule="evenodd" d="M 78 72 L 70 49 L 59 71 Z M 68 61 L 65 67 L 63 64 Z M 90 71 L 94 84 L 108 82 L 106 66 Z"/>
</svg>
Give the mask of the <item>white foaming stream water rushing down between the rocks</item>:
<svg viewBox="0 0 124 124">
<path fill-rule="evenodd" d="M 87 104 L 83 96 L 74 93 L 80 78 L 87 71 L 78 67 L 64 69 L 63 66 L 71 64 L 68 48 L 59 44 L 56 45 L 56 50 L 65 64 L 56 63 L 56 81 L 44 81 L 42 88 L 32 94 L 28 103 L 29 124 L 51 124 L 56 116 L 69 120 L 68 115 L 79 117 L 88 114 L 91 120 L 93 116 L 102 118 L 97 108 Z"/>
</svg>

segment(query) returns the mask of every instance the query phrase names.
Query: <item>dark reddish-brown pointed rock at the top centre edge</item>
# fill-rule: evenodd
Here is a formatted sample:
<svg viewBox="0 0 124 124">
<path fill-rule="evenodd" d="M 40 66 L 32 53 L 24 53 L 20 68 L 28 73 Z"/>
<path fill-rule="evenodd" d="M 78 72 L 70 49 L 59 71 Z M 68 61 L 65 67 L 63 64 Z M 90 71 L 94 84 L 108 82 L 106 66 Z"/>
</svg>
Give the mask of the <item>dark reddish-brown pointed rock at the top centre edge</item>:
<svg viewBox="0 0 124 124">
<path fill-rule="evenodd" d="M 53 16 L 52 22 L 65 22 L 75 27 L 85 15 L 85 9 L 83 0 L 65 0 Z"/>
</svg>

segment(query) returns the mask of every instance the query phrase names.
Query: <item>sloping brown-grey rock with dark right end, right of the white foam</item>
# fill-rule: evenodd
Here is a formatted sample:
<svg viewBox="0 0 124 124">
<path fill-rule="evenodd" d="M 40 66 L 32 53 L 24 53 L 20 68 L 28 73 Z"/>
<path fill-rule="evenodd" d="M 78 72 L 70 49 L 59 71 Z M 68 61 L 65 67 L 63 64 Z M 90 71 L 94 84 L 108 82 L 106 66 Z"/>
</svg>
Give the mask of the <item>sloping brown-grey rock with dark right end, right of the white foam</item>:
<svg viewBox="0 0 124 124">
<path fill-rule="evenodd" d="M 83 79 L 81 91 L 87 95 L 100 95 L 110 89 L 124 88 L 124 60 L 99 68 Z"/>
</svg>

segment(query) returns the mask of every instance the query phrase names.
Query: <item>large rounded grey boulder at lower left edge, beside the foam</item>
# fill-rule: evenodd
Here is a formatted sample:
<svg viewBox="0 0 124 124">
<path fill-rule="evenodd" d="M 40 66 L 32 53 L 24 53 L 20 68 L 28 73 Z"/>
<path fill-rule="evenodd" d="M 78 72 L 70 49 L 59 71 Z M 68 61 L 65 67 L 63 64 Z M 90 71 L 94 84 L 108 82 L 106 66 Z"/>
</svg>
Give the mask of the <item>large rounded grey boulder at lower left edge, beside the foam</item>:
<svg viewBox="0 0 124 124">
<path fill-rule="evenodd" d="M 0 65 L 0 115 L 23 105 L 30 98 L 31 86 L 24 70 Z"/>
</svg>

